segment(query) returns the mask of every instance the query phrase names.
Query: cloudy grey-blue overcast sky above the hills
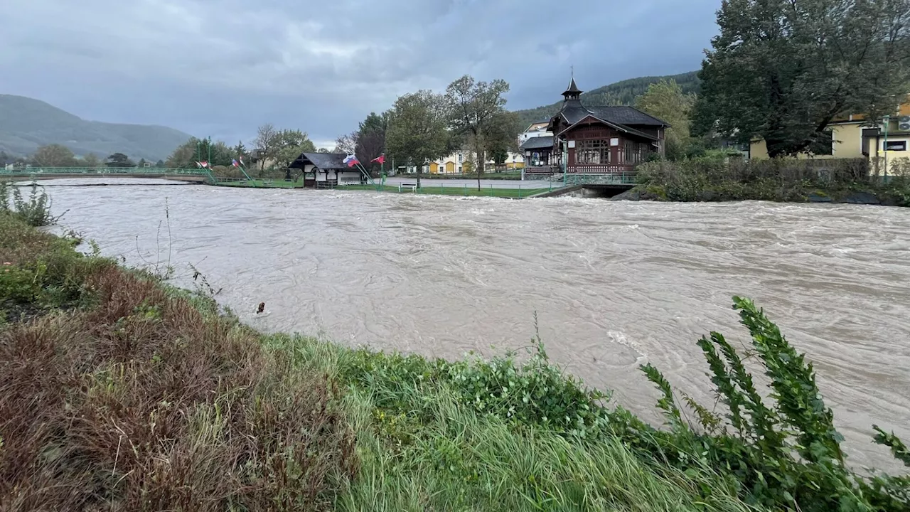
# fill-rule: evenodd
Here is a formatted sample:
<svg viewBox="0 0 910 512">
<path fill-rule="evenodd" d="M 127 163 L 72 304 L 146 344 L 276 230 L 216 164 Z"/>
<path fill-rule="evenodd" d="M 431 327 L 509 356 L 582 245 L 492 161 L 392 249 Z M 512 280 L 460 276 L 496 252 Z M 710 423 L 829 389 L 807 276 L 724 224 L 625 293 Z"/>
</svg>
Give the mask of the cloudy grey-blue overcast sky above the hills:
<svg viewBox="0 0 910 512">
<path fill-rule="evenodd" d="M 509 108 L 699 67 L 720 0 L 0 0 L 0 93 L 81 118 L 317 145 L 470 74 Z"/>
</svg>

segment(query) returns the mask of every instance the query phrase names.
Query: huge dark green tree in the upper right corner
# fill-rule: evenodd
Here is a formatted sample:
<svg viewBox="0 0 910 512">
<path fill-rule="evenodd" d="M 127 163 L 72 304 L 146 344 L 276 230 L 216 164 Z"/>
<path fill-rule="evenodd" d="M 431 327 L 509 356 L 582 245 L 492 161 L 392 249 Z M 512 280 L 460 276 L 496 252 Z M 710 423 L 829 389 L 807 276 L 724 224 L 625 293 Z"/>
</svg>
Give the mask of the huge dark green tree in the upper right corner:
<svg viewBox="0 0 910 512">
<path fill-rule="evenodd" d="M 724 0 L 717 23 L 694 128 L 772 157 L 830 151 L 832 119 L 892 113 L 910 83 L 910 0 Z"/>
</svg>

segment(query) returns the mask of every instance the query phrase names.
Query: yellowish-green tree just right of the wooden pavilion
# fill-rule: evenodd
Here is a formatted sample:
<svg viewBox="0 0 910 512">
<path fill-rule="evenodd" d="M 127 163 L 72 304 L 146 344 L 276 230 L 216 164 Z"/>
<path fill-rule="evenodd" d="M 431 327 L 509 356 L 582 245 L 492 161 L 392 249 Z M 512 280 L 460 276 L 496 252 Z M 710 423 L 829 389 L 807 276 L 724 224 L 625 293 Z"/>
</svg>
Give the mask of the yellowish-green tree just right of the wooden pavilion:
<svg viewBox="0 0 910 512">
<path fill-rule="evenodd" d="M 635 98 L 635 107 L 670 124 L 663 138 L 667 159 L 680 159 L 689 146 L 689 124 L 695 95 L 685 94 L 676 80 L 661 80 Z"/>
</svg>

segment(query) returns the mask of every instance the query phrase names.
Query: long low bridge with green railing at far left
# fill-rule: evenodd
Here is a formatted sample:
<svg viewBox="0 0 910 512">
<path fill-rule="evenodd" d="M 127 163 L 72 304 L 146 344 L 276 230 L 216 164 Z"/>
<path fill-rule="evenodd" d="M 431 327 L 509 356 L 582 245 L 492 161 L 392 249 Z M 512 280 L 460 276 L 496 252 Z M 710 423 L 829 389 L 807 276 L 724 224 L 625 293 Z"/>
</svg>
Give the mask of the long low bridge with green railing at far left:
<svg viewBox="0 0 910 512">
<path fill-rule="evenodd" d="M 157 178 L 198 183 L 215 181 L 215 178 L 207 169 L 161 169 L 154 167 L 32 167 L 28 169 L 0 169 L 0 181 L 63 178 Z"/>
</svg>

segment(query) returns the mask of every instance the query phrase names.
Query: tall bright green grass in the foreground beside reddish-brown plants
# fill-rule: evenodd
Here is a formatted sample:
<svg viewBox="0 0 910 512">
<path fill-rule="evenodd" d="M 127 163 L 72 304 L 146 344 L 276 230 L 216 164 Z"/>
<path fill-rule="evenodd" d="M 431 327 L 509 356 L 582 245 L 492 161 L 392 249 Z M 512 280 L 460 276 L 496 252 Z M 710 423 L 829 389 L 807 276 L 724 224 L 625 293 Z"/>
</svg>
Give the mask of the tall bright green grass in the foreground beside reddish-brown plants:
<svg viewBox="0 0 910 512">
<path fill-rule="evenodd" d="M 709 469 L 652 463 L 617 436 L 566 435 L 509 407 L 480 411 L 456 384 L 457 369 L 486 368 L 480 361 L 450 366 L 282 335 L 266 343 L 293 353 L 302 371 L 349 385 L 360 466 L 339 510 L 756 510 Z M 511 366 L 519 379 L 521 368 Z"/>
</svg>

